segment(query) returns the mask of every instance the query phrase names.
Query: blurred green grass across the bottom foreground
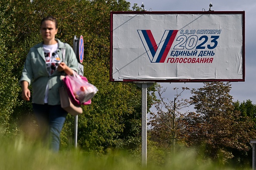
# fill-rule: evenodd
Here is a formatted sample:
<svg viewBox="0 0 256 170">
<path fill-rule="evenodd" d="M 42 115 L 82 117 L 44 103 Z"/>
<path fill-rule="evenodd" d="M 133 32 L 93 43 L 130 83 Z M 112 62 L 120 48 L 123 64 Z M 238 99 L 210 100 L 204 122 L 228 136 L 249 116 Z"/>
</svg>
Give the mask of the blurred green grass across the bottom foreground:
<svg viewBox="0 0 256 170">
<path fill-rule="evenodd" d="M 0 170 L 232 170 L 212 161 L 201 161 L 193 151 L 181 151 L 169 155 L 163 164 L 151 151 L 147 166 L 141 165 L 140 156 L 122 151 L 110 151 L 95 155 L 71 149 L 53 153 L 40 144 L 26 142 L 22 137 L 0 139 Z M 156 154 L 157 155 L 157 154 Z M 160 158 L 159 158 L 160 159 Z M 162 159 L 162 158 L 161 158 Z M 251 168 L 244 168 L 251 169 Z"/>
</svg>

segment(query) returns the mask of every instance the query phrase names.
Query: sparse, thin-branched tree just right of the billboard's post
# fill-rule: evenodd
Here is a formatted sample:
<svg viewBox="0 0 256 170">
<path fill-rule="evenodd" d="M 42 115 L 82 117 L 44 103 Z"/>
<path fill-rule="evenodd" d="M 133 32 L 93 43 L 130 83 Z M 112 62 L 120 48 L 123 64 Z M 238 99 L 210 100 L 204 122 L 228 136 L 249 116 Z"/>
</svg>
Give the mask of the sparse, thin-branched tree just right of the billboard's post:
<svg viewBox="0 0 256 170">
<path fill-rule="evenodd" d="M 158 141 L 159 146 L 172 148 L 175 152 L 175 141 L 181 140 L 181 133 L 183 124 L 180 122 L 181 110 L 188 107 L 189 103 L 187 99 L 180 99 L 181 94 L 189 88 L 182 88 L 178 91 L 178 88 L 173 88 L 176 94 L 174 100 L 165 101 L 162 94 L 165 93 L 166 88 L 162 90 L 160 85 L 157 86 L 157 92 L 159 94 L 159 100 L 154 105 L 157 112 L 150 112 L 149 125 L 152 126 L 150 130 L 152 136 Z"/>
</svg>

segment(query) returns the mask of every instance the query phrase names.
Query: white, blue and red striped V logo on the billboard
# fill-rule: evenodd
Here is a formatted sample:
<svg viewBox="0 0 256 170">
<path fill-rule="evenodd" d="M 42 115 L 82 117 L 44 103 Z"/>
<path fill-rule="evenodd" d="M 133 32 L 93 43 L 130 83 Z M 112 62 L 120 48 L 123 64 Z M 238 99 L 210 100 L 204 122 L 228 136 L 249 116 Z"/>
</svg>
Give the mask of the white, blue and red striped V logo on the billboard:
<svg viewBox="0 0 256 170">
<path fill-rule="evenodd" d="M 167 57 L 178 30 L 165 30 L 157 46 L 151 30 L 137 30 L 151 63 L 163 63 Z"/>
</svg>

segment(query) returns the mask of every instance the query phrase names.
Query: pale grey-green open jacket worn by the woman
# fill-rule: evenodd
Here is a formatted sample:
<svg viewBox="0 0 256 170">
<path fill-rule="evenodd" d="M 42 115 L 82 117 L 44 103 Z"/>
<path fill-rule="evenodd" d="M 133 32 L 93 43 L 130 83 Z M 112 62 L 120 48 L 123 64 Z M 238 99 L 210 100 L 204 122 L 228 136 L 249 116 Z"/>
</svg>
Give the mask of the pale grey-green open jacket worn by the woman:
<svg viewBox="0 0 256 170">
<path fill-rule="evenodd" d="M 65 48 L 64 62 L 72 70 L 78 72 L 78 61 L 72 47 L 69 44 L 62 43 L 59 39 L 56 40 L 58 41 L 57 53 L 61 61 L 63 61 L 61 49 Z M 48 104 L 58 105 L 60 104 L 59 87 L 62 86 L 61 75 L 64 75 L 64 73 L 56 70 L 49 76 L 45 64 L 43 43 L 39 43 L 28 52 L 19 84 L 21 85 L 22 81 L 31 84 L 33 90 L 32 103 L 44 104 L 45 89 L 47 82 L 49 82 Z"/>
</svg>

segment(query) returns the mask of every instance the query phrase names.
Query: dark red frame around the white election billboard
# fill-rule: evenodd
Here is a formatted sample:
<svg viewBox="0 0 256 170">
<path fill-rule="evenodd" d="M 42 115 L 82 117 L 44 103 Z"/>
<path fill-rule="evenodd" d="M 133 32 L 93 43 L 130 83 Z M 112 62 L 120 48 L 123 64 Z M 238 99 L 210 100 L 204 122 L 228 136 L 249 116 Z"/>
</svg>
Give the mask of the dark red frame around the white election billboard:
<svg viewBox="0 0 256 170">
<path fill-rule="evenodd" d="M 113 79 L 113 15 L 115 14 L 241 14 L 242 15 L 242 79 Z M 245 12 L 244 11 L 116 11 L 110 12 L 110 82 L 244 82 L 245 81 Z"/>
</svg>

